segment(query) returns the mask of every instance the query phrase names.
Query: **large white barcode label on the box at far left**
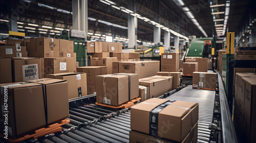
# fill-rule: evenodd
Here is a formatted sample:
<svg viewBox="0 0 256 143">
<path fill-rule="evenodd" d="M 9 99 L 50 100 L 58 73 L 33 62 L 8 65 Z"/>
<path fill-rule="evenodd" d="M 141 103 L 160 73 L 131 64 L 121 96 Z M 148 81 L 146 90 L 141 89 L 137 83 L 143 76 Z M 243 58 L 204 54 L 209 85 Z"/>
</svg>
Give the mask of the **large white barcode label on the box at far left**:
<svg viewBox="0 0 256 143">
<path fill-rule="evenodd" d="M 27 64 L 22 66 L 23 81 L 37 80 L 38 78 L 38 65 Z"/>
</svg>

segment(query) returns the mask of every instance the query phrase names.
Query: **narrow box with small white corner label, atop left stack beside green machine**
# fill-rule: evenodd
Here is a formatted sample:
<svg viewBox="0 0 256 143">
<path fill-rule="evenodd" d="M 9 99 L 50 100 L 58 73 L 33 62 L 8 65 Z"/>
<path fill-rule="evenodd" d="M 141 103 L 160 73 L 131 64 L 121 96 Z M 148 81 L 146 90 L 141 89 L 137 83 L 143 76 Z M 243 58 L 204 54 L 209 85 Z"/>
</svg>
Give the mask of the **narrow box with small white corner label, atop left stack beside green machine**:
<svg viewBox="0 0 256 143">
<path fill-rule="evenodd" d="M 74 57 L 74 41 L 59 39 L 59 57 Z"/>
</svg>

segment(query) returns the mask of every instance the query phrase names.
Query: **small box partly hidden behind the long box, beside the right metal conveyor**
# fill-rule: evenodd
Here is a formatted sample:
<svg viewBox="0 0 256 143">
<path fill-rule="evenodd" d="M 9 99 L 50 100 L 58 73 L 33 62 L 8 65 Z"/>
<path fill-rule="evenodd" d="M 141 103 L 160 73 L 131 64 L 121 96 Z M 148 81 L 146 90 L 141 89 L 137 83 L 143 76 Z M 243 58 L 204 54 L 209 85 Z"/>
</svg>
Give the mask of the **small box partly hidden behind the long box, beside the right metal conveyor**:
<svg viewBox="0 0 256 143">
<path fill-rule="evenodd" d="M 173 77 L 173 90 L 180 87 L 180 75 L 181 72 L 165 72 L 165 71 L 159 71 L 157 72 L 157 75 L 160 76 L 172 76 Z"/>
</svg>

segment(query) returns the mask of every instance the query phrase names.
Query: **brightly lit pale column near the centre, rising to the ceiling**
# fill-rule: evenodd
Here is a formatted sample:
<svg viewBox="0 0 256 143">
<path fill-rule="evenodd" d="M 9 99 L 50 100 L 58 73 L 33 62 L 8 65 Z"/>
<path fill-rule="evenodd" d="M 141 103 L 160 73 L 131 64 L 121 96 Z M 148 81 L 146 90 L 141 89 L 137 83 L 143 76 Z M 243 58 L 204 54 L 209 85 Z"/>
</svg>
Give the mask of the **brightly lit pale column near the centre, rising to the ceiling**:
<svg viewBox="0 0 256 143">
<path fill-rule="evenodd" d="M 136 4 L 133 1 L 128 2 L 128 9 L 134 11 L 136 13 Z M 128 14 L 127 16 L 128 22 L 128 47 L 135 47 L 137 50 L 137 17 Z"/>
</svg>

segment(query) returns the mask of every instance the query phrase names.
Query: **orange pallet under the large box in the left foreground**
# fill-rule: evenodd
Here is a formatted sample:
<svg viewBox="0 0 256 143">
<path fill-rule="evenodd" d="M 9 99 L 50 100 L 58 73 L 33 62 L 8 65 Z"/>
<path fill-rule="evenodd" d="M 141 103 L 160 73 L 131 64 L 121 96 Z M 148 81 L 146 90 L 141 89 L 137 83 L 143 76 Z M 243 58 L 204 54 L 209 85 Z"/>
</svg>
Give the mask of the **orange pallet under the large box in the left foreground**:
<svg viewBox="0 0 256 143">
<path fill-rule="evenodd" d="M 23 140 L 26 140 L 26 139 L 29 139 L 29 138 L 37 139 L 38 137 L 41 137 L 41 136 L 44 136 L 44 135 L 53 134 L 53 133 L 56 133 L 56 132 L 59 132 L 59 131 L 61 132 L 62 131 L 61 126 L 65 125 L 65 124 L 68 124 L 69 122 L 70 122 L 70 120 L 68 120 L 68 119 L 62 120 L 58 123 L 54 123 L 52 125 L 49 125 L 48 128 L 41 128 L 41 129 L 35 130 L 31 134 L 26 134 L 23 137 L 20 137 L 20 138 L 17 138 L 17 139 L 11 139 L 11 138 L 6 139 L 6 138 L 4 138 L 3 134 L 0 134 L 0 137 L 4 138 L 8 142 L 20 142 L 20 141 L 23 141 Z"/>
</svg>

